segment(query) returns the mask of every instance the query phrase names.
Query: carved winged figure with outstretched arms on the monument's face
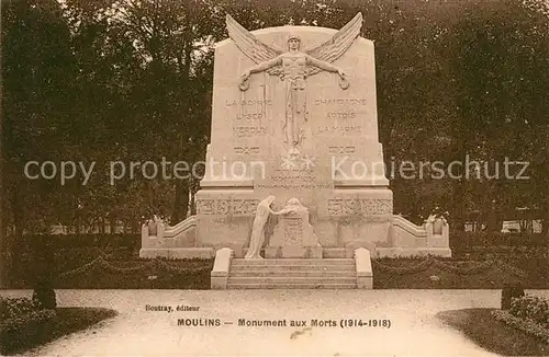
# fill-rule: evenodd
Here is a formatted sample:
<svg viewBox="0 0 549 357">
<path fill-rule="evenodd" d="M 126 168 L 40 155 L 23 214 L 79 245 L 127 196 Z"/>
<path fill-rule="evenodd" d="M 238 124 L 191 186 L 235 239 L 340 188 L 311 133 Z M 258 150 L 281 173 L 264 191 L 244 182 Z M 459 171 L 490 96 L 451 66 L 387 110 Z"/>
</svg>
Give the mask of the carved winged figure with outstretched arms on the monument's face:
<svg viewBox="0 0 549 357">
<path fill-rule="evenodd" d="M 343 90 L 349 88 L 345 71 L 332 62 L 341 57 L 360 34 L 362 14 L 357 13 L 329 41 L 306 51 L 301 50 L 299 36 L 290 35 L 288 50 L 283 51 L 257 39 L 228 14 L 226 24 L 228 35 L 236 46 L 256 62 L 256 66 L 242 74 L 239 89 L 248 90 L 249 76 L 262 71 L 280 77 L 285 83 L 284 143 L 289 149 L 289 154 L 298 154 L 304 138 L 301 126 L 307 122 L 305 79 L 321 71 L 336 72 L 339 76 L 339 87 Z"/>
</svg>

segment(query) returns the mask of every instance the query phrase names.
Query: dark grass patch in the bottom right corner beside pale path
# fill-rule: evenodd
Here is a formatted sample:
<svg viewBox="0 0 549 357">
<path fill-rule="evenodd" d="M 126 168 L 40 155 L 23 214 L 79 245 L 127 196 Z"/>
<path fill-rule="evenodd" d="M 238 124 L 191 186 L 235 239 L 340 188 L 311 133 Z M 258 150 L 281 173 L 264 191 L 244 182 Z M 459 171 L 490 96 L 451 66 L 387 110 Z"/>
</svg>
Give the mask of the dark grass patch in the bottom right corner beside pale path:
<svg viewBox="0 0 549 357">
<path fill-rule="evenodd" d="M 437 316 L 477 345 L 503 356 L 549 356 L 549 345 L 492 318 L 494 309 L 463 309 Z"/>
</svg>

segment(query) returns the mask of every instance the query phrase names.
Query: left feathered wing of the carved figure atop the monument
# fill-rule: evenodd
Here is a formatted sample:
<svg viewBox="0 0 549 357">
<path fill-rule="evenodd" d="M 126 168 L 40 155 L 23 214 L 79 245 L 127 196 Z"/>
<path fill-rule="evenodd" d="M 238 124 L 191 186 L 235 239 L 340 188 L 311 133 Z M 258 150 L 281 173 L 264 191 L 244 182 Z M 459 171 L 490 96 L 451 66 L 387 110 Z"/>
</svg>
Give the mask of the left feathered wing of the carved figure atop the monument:
<svg viewBox="0 0 549 357">
<path fill-rule="evenodd" d="M 274 49 L 256 38 L 249 31 L 244 28 L 229 14 L 226 18 L 228 36 L 235 42 L 246 56 L 254 62 L 261 64 L 271 60 L 282 54 L 281 50 Z M 276 66 L 267 70 L 269 74 L 278 76 L 282 71 L 281 66 Z"/>
</svg>

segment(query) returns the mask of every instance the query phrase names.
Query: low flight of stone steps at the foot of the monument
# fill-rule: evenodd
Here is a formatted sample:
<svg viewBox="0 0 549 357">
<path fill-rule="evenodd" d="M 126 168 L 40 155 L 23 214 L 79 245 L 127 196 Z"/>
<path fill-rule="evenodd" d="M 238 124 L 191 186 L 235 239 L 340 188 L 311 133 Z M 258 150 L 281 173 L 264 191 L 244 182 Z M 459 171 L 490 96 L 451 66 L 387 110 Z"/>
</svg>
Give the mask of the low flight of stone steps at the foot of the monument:
<svg viewBox="0 0 549 357">
<path fill-rule="evenodd" d="M 233 258 L 227 289 L 356 289 L 354 258 Z"/>
</svg>

